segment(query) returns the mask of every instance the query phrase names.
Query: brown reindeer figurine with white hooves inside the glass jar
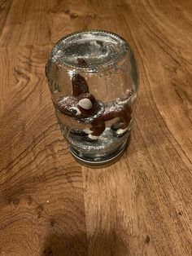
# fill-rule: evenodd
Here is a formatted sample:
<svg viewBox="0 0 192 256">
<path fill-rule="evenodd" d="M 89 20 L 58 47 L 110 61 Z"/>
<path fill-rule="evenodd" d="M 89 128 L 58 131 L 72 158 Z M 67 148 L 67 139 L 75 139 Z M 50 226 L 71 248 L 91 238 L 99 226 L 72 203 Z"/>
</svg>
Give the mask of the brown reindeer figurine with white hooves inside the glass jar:
<svg viewBox="0 0 192 256">
<path fill-rule="evenodd" d="M 120 98 L 103 104 L 104 108 L 101 111 L 101 103 L 94 98 L 94 95 L 89 93 L 89 86 L 85 77 L 76 73 L 72 76 L 72 96 L 61 99 L 58 108 L 62 113 L 76 118 L 77 121 L 92 118 L 91 128 L 85 130 L 85 133 L 87 135 L 86 139 L 95 141 L 105 130 L 105 121 L 110 121 L 116 117 L 120 121 L 111 126 L 111 129 L 115 130 L 114 134 L 116 136 L 124 135 L 131 121 L 132 110 L 128 103 L 132 95 L 132 90 L 126 90 Z"/>
</svg>

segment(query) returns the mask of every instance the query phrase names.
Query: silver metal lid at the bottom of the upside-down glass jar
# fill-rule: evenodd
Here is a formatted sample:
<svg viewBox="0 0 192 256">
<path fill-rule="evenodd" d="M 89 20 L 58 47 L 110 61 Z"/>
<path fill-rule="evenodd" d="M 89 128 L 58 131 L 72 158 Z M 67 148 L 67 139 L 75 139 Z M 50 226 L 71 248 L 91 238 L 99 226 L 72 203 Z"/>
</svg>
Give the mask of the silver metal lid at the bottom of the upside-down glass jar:
<svg viewBox="0 0 192 256">
<path fill-rule="evenodd" d="M 120 159 L 126 146 L 129 144 L 129 140 L 125 141 L 121 144 L 120 148 L 118 148 L 115 152 L 112 152 L 110 155 L 105 157 L 85 157 L 81 153 L 77 152 L 74 148 L 68 145 L 72 156 L 78 161 L 81 165 L 89 166 L 90 168 L 103 168 L 106 166 L 111 166 L 117 160 Z"/>
</svg>

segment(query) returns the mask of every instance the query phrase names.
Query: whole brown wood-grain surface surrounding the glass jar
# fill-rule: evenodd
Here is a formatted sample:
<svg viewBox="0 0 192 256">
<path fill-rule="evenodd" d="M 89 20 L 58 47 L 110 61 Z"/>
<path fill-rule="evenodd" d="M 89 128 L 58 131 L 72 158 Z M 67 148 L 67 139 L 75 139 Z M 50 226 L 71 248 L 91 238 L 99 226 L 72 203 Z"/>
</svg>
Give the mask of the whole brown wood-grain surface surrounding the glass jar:
<svg viewBox="0 0 192 256">
<path fill-rule="evenodd" d="M 192 255 L 191 0 L 1 0 L 0 255 Z M 80 29 L 129 41 L 132 141 L 93 170 L 68 152 L 44 73 Z"/>
</svg>

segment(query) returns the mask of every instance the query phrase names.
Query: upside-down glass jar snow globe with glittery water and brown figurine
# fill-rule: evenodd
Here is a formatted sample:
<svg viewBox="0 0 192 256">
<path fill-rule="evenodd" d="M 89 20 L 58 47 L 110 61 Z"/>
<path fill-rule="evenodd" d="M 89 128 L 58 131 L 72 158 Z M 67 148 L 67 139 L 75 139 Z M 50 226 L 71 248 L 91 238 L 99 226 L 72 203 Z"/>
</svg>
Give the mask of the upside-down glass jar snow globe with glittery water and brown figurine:
<svg viewBox="0 0 192 256">
<path fill-rule="evenodd" d="M 115 33 L 69 34 L 53 47 L 46 77 L 63 136 L 77 161 L 107 166 L 129 142 L 137 68 L 129 44 Z"/>
</svg>

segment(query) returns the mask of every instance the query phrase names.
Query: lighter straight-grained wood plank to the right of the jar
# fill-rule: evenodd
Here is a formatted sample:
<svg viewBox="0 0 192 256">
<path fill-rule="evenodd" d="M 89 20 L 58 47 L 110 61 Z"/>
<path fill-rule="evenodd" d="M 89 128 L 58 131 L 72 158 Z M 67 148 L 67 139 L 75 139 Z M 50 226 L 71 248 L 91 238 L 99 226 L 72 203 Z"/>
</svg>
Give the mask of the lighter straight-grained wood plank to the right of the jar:
<svg viewBox="0 0 192 256">
<path fill-rule="evenodd" d="M 103 170 L 83 167 L 89 255 L 192 253 L 192 70 L 177 53 L 191 45 L 182 29 L 190 24 L 185 15 L 169 13 L 172 5 L 90 1 L 73 21 L 75 30 L 101 27 L 126 38 L 141 77 L 136 124 L 123 160 Z M 86 10 L 103 20 L 96 15 L 86 22 Z"/>
</svg>

